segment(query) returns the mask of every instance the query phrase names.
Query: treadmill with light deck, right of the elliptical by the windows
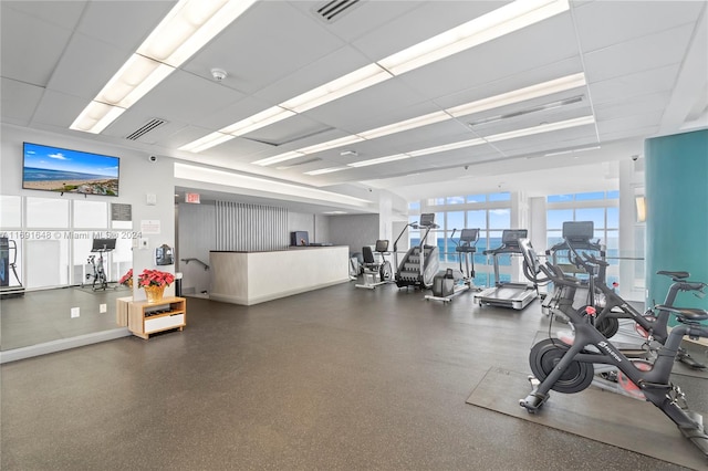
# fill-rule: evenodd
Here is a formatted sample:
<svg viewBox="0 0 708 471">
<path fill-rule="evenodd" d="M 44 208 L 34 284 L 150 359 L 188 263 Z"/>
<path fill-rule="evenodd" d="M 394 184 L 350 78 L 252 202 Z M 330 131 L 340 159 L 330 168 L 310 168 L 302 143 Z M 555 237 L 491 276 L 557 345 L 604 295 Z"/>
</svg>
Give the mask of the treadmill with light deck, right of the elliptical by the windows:
<svg viewBox="0 0 708 471">
<path fill-rule="evenodd" d="M 479 305 L 492 305 L 522 310 L 539 295 L 537 286 L 528 283 L 502 283 L 499 281 L 499 255 L 507 253 L 522 254 L 519 239 L 525 239 L 527 229 L 504 229 L 501 234 L 501 247 L 485 250 L 485 255 L 492 255 L 494 262 L 494 286 L 475 294 L 475 302 Z"/>
</svg>

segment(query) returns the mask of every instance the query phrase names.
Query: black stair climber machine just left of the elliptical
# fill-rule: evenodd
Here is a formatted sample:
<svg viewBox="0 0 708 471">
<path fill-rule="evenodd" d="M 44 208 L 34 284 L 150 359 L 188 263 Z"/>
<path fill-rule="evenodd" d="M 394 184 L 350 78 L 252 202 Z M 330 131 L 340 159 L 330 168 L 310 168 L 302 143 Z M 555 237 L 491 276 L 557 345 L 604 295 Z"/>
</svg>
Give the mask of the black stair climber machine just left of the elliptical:
<svg viewBox="0 0 708 471">
<path fill-rule="evenodd" d="M 406 232 L 408 227 L 425 231 L 420 237 L 418 245 L 408 249 L 403 257 L 400 264 L 398 263 L 398 240 Z M 439 249 L 437 245 L 426 245 L 425 241 L 433 229 L 438 229 L 435 223 L 435 213 L 420 214 L 420 222 L 412 222 L 400 231 L 398 238 L 394 242 L 394 262 L 396 265 L 396 285 L 398 287 L 419 287 L 424 290 L 433 286 L 433 279 L 440 266 Z"/>
</svg>

